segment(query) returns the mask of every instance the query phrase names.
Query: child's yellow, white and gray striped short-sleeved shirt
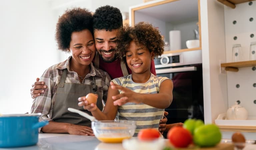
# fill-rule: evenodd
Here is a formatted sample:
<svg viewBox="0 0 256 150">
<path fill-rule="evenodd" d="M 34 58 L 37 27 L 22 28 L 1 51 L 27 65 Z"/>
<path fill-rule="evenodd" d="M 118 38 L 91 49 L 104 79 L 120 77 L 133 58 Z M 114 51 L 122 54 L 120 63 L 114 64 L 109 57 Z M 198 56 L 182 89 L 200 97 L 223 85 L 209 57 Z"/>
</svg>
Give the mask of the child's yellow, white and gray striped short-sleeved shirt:
<svg viewBox="0 0 256 150">
<path fill-rule="evenodd" d="M 129 88 L 136 93 L 159 93 L 159 86 L 164 80 L 170 80 L 167 77 L 158 77 L 151 73 L 150 79 L 145 83 L 135 83 L 132 81 L 132 75 L 127 75 L 112 80 L 115 84 Z M 122 91 L 120 91 L 122 93 Z M 155 108 L 144 103 L 126 103 L 118 108 L 119 120 L 136 121 L 135 135 L 140 129 L 155 128 L 158 130 L 160 119 L 162 119 L 164 109 Z"/>
</svg>

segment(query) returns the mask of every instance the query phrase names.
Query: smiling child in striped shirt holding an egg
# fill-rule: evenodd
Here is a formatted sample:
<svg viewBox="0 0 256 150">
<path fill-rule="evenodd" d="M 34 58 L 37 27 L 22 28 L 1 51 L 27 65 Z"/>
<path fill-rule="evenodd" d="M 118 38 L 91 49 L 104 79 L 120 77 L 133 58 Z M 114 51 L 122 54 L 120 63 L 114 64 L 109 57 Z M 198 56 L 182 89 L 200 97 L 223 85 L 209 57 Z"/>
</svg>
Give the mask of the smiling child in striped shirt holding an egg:
<svg viewBox="0 0 256 150">
<path fill-rule="evenodd" d="M 91 111 L 97 120 L 114 120 L 117 112 L 119 120 L 135 120 L 135 136 L 139 129 L 158 129 L 164 109 L 173 98 L 172 81 L 150 72 L 151 61 L 162 55 L 163 47 L 159 31 L 151 24 L 140 22 L 134 27 L 123 28 L 118 35 L 117 49 L 132 74 L 110 82 L 103 112 L 95 104 L 88 105 L 85 97 L 78 99 L 78 105 Z"/>
</svg>

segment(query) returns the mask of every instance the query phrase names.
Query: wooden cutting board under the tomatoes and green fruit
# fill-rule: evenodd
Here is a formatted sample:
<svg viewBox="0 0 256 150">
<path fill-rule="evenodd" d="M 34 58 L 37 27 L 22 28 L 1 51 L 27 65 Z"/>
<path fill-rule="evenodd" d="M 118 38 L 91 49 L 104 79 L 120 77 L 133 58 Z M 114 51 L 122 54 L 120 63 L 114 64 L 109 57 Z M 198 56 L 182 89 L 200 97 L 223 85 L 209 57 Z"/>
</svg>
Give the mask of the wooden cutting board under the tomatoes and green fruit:
<svg viewBox="0 0 256 150">
<path fill-rule="evenodd" d="M 171 147 L 172 150 L 176 150 L 169 141 L 166 141 L 166 146 Z M 187 148 L 177 148 L 177 150 L 234 150 L 234 144 L 233 143 L 219 143 L 218 145 L 214 147 L 196 147 L 194 145 L 190 145 Z"/>
</svg>

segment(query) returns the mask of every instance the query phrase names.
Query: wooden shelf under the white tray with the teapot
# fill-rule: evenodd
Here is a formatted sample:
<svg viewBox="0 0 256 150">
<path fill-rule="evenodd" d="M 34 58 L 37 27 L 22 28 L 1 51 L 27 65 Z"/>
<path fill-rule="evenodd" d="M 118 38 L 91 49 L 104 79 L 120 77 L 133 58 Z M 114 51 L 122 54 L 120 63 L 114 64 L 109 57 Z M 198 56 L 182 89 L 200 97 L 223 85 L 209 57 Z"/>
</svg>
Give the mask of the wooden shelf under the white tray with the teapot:
<svg viewBox="0 0 256 150">
<path fill-rule="evenodd" d="M 220 126 L 217 125 L 221 131 L 231 132 L 256 132 L 256 126 Z"/>
</svg>

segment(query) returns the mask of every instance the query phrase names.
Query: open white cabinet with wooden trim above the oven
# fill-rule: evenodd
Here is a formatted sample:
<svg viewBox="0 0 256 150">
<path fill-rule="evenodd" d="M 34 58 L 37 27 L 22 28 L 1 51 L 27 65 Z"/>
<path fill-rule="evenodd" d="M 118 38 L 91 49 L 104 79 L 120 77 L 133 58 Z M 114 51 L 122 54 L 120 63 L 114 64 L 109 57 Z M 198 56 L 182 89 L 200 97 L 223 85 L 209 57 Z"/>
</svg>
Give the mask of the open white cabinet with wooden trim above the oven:
<svg viewBox="0 0 256 150">
<path fill-rule="evenodd" d="M 165 51 L 164 53 L 177 53 L 189 50 L 187 40 L 195 39 L 195 29 L 200 36 L 199 0 L 154 0 L 141 5 L 130 7 L 130 25 L 140 21 L 149 22 L 158 28 L 164 40 L 170 43 L 169 31 L 180 31 L 180 49 Z M 199 37 L 200 39 L 200 37 Z"/>
</svg>

